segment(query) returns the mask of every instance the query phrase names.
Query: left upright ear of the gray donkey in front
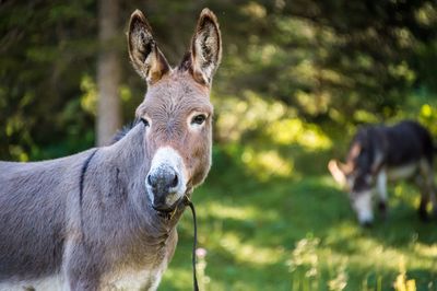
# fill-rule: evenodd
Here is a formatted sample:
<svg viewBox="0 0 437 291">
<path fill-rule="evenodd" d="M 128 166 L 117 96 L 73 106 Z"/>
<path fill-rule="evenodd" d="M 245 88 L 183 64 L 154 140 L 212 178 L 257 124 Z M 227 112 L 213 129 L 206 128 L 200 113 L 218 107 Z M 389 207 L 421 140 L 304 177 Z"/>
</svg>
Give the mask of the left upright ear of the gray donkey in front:
<svg viewBox="0 0 437 291">
<path fill-rule="evenodd" d="M 152 27 L 140 10 L 135 10 L 130 16 L 128 45 L 133 68 L 149 85 L 160 81 L 170 70 L 153 39 Z"/>
</svg>

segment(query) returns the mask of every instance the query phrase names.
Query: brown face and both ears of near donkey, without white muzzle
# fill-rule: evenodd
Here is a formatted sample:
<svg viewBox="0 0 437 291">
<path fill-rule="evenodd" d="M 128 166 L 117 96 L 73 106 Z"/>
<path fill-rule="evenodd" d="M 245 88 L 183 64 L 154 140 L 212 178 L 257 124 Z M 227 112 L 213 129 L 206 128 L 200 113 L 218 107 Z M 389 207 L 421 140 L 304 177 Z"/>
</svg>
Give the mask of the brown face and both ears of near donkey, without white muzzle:
<svg viewBox="0 0 437 291">
<path fill-rule="evenodd" d="M 196 186 L 205 178 L 211 165 L 213 108 L 209 94 L 222 58 L 218 22 L 209 9 L 201 12 L 191 50 L 177 69 L 170 68 L 158 49 L 141 11 L 132 13 L 129 27 L 130 59 L 147 82 L 147 93 L 137 108 L 137 117 L 150 123 L 145 136 L 149 158 L 158 148 L 170 146 L 184 158 L 189 172 L 188 186 Z M 194 113 L 206 116 L 200 130 L 190 129 L 188 119 Z"/>
</svg>

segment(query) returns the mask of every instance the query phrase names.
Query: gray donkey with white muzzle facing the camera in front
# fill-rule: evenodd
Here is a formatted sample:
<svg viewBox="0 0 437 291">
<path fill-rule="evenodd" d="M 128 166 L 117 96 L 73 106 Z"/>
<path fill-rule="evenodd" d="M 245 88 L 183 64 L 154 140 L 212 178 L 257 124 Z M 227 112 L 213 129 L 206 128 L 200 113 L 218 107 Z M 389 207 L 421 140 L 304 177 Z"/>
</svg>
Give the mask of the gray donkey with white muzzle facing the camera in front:
<svg viewBox="0 0 437 291">
<path fill-rule="evenodd" d="M 111 146 L 0 162 L 0 290 L 155 290 L 173 257 L 182 199 L 211 165 L 209 100 L 222 43 L 204 9 L 172 68 L 140 11 L 129 55 L 147 82 L 137 123 Z"/>
</svg>

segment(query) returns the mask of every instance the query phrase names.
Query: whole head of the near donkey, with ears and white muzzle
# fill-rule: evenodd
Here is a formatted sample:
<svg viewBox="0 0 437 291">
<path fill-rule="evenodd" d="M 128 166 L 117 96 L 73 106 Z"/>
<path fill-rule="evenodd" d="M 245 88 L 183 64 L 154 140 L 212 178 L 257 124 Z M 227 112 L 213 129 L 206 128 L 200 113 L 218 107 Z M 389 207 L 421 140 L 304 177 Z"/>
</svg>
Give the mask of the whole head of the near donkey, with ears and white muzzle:
<svg viewBox="0 0 437 291">
<path fill-rule="evenodd" d="M 155 210 L 172 211 L 211 166 L 209 95 L 222 55 L 218 23 L 210 10 L 201 12 L 191 49 L 177 68 L 168 65 L 139 10 L 130 19 L 128 43 L 132 65 L 147 83 L 137 108 L 150 162 L 145 187 Z"/>
</svg>

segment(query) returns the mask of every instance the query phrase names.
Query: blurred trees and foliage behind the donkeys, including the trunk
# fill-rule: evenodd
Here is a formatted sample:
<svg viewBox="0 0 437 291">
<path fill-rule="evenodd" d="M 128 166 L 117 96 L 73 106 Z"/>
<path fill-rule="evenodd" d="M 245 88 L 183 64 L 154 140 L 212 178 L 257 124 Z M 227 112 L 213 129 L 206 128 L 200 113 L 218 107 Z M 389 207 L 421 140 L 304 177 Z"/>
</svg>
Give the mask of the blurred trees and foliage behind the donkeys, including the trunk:
<svg viewBox="0 0 437 291">
<path fill-rule="evenodd" d="M 176 66 L 203 7 L 224 37 L 213 86 L 217 142 L 262 138 L 285 119 L 328 136 L 390 118 L 436 121 L 435 1 L 10 0 L 0 4 L 0 158 L 105 143 L 145 92 L 128 61 L 130 13 L 145 12 Z M 258 117 L 233 118 L 257 104 Z"/>
</svg>

